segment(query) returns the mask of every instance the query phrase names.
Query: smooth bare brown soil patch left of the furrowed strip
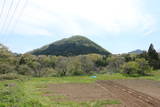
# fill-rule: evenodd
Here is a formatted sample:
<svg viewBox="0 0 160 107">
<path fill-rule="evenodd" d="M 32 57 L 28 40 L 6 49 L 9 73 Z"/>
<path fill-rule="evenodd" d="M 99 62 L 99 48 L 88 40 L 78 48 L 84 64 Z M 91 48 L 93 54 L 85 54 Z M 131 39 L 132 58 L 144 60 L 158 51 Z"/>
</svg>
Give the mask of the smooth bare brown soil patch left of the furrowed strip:
<svg viewBox="0 0 160 107">
<path fill-rule="evenodd" d="M 92 100 L 106 100 L 113 99 L 110 92 L 106 92 L 97 84 L 81 84 L 81 83 L 67 83 L 67 84 L 50 84 L 48 86 L 46 95 L 62 95 L 68 100 L 72 101 L 92 101 Z"/>
</svg>

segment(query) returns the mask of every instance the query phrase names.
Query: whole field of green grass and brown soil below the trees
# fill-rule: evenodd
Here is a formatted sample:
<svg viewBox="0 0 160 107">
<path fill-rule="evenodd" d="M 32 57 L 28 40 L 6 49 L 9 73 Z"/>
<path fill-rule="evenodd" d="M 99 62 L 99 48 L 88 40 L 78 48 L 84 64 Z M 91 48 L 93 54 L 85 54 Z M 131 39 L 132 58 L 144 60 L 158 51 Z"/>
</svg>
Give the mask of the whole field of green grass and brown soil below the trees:
<svg viewBox="0 0 160 107">
<path fill-rule="evenodd" d="M 158 107 L 160 73 L 1 81 L 0 107 Z"/>
</svg>

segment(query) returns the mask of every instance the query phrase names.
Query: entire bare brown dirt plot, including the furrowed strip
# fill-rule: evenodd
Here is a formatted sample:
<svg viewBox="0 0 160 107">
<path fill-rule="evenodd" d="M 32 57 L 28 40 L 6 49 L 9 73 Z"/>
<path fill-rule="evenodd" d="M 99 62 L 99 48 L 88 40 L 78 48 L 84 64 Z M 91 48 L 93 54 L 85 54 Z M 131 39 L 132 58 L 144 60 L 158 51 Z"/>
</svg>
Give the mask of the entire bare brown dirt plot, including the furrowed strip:
<svg viewBox="0 0 160 107">
<path fill-rule="evenodd" d="M 113 80 L 96 83 L 49 84 L 45 96 L 64 96 L 54 100 L 118 100 L 111 107 L 160 107 L 160 82 L 152 80 Z M 108 105 L 107 105 L 108 107 Z"/>
</svg>

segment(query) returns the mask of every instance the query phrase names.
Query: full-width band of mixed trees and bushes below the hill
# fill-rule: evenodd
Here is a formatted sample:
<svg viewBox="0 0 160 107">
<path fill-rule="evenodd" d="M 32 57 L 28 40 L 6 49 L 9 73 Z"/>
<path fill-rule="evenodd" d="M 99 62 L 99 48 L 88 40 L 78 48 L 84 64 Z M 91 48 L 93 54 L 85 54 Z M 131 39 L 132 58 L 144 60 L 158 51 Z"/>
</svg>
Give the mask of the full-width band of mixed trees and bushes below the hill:
<svg viewBox="0 0 160 107">
<path fill-rule="evenodd" d="M 48 77 L 123 73 L 137 76 L 146 75 L 152 69 L 160 69 L 160 57 L 152 44 L 147 52 L 139 55 L 88 54 L 70 57 L 18 55 L 8 51 L 6 47 L 0 48 L 0 79 L 16 78 L 15 74 Z"/>
</svg>

